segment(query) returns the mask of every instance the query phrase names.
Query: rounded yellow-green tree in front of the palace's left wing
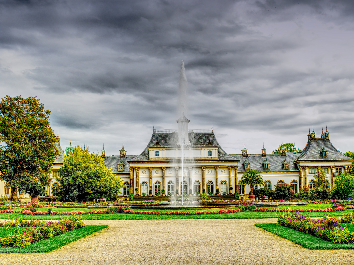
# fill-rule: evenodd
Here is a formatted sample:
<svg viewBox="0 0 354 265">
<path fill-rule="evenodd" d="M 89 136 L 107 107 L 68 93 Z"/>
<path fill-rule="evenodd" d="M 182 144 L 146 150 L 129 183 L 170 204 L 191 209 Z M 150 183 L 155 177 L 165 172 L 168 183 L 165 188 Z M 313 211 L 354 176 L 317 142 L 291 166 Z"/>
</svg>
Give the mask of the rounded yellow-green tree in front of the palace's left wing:
<svg viewBox="0 0 354 265">
<path fill-rule="evenodd" d="M 60 184 L 56 195 L 69 196 L 69 200 L 85 201 L 98 197 L 116 200 L 123 181 L 107 169 L 104 159 L 88 149 L 76 147 L 73 154 L 65 155 L 63 166 L 58 170 Z"/>
</svg>

